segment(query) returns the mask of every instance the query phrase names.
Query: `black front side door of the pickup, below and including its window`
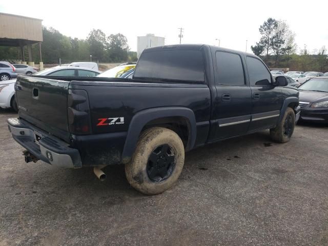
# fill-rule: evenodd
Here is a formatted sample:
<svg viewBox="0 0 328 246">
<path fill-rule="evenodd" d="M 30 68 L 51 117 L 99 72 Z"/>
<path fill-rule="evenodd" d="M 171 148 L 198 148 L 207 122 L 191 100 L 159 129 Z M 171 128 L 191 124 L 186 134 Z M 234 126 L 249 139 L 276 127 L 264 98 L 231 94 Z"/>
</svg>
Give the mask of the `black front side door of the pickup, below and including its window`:
<svg viewBox="0 0 328 246">
<path fill-rule="evenodd" d="M 276 125 L 282 106 L 280 87 L 273 85 L 272 76 L 263 62 L 252 56 L 246 57 L 252 90 L 252 121 L 250 132 L 268 129 Z"/>
</svg>

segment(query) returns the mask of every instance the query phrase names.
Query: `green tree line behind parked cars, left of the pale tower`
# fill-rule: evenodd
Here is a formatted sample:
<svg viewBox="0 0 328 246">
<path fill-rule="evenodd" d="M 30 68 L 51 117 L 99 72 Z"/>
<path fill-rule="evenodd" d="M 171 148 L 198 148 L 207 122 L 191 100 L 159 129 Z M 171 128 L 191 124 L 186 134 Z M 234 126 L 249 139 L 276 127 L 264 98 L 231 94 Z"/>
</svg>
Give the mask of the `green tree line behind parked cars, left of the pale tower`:
<svg viewBox="0 0 328 246">
<path fill-rule="evenodd" d="M 57 64 L 73 61 L 93 61 L 103 63 L 120 63 L 136 61 L 136 52 L 130 51 L 128 39 L 121 33 L 106 34 L 100 29 L 90 31 L 86 39 L 68 37 L 56 29 L 43 26 L 42 59 L 45 64 Z M 25 60 L 28 52 L 25 48 Z M 0 59 L 22 60 L 16 47 L 0 47 Z M 40 61 L 38 44 L 32 45 L 33 61 Z"/>
</svg>

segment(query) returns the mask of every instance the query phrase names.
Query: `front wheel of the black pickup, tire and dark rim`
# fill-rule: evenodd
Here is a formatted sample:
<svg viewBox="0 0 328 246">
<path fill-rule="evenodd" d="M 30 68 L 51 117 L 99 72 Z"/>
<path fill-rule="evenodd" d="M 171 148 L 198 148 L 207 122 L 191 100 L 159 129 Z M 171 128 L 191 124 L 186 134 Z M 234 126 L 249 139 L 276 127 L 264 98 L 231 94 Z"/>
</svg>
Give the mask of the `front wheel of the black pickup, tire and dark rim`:
<svg viewBox="0 0 328 246">
<path fill-rule="evenodd" d="M 292 108 L 287 108 L 282 120 L 276 128 L 270 129 L 270 137 L 276 142 L 288 142 L 295 129 L 295 113 Z"/>
</svg>

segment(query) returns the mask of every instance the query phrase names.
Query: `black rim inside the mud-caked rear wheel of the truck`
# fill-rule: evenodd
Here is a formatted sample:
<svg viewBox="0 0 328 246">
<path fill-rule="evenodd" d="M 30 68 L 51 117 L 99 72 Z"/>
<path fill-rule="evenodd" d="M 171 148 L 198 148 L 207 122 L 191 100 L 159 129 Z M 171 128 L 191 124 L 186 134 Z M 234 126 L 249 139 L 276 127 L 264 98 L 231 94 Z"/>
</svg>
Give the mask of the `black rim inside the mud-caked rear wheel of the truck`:
<svg viewBox="0 0 328 246">
<path fill-rule="evenodd" d="M 162 182 L 168 179 L 175 168 L 175 155 L 168 144 L 156 147 L 149 155 L 147 175 L 153 182 Z"/>
</svg>

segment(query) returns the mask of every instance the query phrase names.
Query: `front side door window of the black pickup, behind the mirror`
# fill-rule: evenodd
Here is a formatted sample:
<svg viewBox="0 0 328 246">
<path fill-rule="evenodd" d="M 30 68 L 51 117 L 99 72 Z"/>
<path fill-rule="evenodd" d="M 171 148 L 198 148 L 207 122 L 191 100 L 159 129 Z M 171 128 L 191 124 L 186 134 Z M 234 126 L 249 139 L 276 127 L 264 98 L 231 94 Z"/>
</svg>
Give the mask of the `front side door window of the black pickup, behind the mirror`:
<svg viewBox="0 0 328 246">
<path fill-rule="evenodd" d="M 247 56 L 247 70 L 251 86 L 269 86 L 271 85 L 271 75 L 262 61 L 255 57 Z"/>
</svg>

